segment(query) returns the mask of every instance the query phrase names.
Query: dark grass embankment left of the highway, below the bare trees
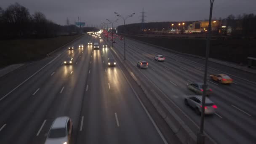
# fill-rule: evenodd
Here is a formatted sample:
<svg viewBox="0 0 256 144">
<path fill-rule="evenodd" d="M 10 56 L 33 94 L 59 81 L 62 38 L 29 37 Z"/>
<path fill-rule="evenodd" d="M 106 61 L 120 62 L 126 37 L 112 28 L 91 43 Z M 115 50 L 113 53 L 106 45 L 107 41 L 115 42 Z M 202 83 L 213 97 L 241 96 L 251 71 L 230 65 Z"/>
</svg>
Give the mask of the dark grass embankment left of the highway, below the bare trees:
<svg viewBox="0 0 256 144">
<path fill-rule="evenodd" d="M 35 61 L 47 53 L 75 40 L 81 35 L 61 36 L 47 39 L 0 40 L 0 67 Z"/>
</svg>

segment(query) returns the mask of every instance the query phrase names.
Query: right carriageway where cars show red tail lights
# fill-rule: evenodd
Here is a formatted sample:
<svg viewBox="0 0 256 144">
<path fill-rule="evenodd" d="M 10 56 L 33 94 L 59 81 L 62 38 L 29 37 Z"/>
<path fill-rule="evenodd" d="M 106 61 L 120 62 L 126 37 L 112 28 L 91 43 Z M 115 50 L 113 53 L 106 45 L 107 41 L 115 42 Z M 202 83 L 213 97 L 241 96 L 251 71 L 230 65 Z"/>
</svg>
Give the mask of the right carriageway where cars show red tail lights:
<svg viewBox="0 0 256 144">
<path fill-rule="evenodd" d="M 123 40 L 116 39 L 115 51 L 123 55 Z M 164 62 L 154 60 L 154 56 L 165 56 Z M 187 83 L 203 82 L 204 60 L 171 53 L 152 45 L 126 38 L 126 60 L 136 67 L 139 60 L 149 63 L 148 69 L 139 69 L 141 77 L 148 78 L 168 96 L 170 107 L 179 107 L 176 113 L 194 133 L 199 131 L 200 116 L 184 104 L 184 98 L 195 95 L 187 88 Z M 231 85 L 223 85 L 210 80 L 213 90 L 209 98 L 217 105 L 214 115 L 205 117 L 205 133 L 218 144 L 255 144 L 256 141 L 256 75 L 238 69 L 209 62 L 208 74 L 227 74 L 234 80 Z"/>
</svg>

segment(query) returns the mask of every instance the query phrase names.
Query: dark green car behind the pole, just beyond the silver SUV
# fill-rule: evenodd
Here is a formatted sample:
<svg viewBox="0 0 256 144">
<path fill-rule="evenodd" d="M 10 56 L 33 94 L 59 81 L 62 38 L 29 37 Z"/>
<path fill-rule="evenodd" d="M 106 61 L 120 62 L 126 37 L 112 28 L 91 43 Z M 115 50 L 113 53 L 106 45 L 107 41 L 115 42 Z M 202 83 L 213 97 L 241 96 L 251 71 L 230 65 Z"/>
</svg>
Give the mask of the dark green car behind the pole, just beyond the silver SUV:
<svg viewBox="0 0 256 144">
<path fill-rule="evenodd" d="M 187 83 L 187 87 L 190 91 L 194 91 L 198 95 L 203 95 L 203 83 Z M 206 95 L 209 96 L 213 93 L 213 90 L 209 87 L 206 88 Z"/>
</svg>

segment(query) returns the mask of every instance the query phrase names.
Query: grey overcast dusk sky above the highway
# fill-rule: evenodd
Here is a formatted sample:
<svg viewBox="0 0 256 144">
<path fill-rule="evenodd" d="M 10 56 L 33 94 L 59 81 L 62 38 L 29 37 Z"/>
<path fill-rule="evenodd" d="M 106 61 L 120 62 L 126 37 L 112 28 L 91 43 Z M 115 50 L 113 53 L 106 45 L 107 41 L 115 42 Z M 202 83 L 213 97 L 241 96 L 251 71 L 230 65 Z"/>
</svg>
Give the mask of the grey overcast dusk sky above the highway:
<svg viewBox="0 0 256 144">
<path fill-rule="evenodd" d="M 67 17 L 74 24 L 77 17 L 86 25 L 100 25 L 106 19 L 116 20 L 114 11 L 126 16 L 136 13 L 126 23 L 141 22 L 144 8 L 145 22 L 153 21 L 195 21 L 209 17 L 210 0 L 1 0 L 0 7 L 6 8 L 15 2 L 27 7 L 30 13 L 40 11 L 47 19 L 64 25 Z M 256 13 L 256 0 L 215 0 L 213 19 L 229 14 Z M 115 26 L 123 24 L 119 21 Z"/>
</svg>

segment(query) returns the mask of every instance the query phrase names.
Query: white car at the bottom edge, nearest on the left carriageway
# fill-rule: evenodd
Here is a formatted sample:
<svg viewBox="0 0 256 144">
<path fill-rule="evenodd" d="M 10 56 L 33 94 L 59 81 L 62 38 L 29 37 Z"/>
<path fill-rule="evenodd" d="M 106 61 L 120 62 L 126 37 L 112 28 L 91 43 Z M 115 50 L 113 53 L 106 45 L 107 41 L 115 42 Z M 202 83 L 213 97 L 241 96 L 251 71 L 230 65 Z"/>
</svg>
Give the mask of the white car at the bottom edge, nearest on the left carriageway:
<svg viewBox="0 0 256 144">
<path fill-rule="evenodd" d="M 45 144 L 70 144 L 73 123 L 69 117 L 57 117 L 48 132 Z"/>
</svg>

